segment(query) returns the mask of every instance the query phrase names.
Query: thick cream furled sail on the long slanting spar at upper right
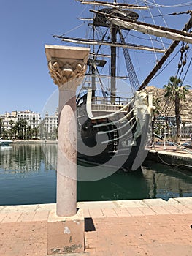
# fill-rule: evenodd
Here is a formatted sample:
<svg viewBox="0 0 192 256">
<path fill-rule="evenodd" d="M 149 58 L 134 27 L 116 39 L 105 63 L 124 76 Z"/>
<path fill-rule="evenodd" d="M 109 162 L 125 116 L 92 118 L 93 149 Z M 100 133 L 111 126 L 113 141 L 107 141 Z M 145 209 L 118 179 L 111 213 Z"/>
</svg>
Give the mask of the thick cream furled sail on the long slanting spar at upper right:
<svg viewBox="0 0 192 256">
<path fill-rule="evenodd" d="M 154 28 L 149 24 L 142 25 L 142 24 L 137 24 L 129 21 L 120 20 L 118 18 L 109 18 L 109 19 L 112 24 L 126 28 L 126 29 L 133 29 L 135 31 L 142 32 L 144 34 L 152 34 L 155 37 L 165 37 L 172 40 L 192 43 L 192 34 L 190 33 L 187 33 L 188 36 L 187 35 L 185 36 L 180 34 L 179 31 L 177 33 L 175 29 L 174 29 L 174 32 L 172 32 L 172 31 L 162 30 L 162 28 L 161 29 Z"/>
</svg>

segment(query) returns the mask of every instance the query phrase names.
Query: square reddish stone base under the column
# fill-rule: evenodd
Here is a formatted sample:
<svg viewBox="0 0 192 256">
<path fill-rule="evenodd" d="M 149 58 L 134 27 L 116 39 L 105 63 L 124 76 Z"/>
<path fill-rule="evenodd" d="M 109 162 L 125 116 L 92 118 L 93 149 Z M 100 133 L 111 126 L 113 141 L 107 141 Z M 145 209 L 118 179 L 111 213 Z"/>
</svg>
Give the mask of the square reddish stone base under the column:
<svg viewBox="0 0 192 256">
<path fill-rule="evenodd" d="M 64 255 L 65 253 L 84 252 L 85 224 L 81 208 L 72 217 L 58 217 L 50 211 L 47 220 L 47 254 Z"/>
</svg>

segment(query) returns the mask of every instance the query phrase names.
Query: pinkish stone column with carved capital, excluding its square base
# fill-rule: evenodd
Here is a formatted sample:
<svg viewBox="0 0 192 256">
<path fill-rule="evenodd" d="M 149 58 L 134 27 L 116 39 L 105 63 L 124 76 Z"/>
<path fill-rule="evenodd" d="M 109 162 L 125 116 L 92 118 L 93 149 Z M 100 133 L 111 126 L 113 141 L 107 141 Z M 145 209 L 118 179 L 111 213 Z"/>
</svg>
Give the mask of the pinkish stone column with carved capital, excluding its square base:
<svg viewBox="0 0 192 256">
<path fill-rule="evenodd" d="M 76 90 L 87 68 L 89 48 L 45 45 L 50 76 L 59 89 L 57 215 L 77 212 Z"/>
</svg>

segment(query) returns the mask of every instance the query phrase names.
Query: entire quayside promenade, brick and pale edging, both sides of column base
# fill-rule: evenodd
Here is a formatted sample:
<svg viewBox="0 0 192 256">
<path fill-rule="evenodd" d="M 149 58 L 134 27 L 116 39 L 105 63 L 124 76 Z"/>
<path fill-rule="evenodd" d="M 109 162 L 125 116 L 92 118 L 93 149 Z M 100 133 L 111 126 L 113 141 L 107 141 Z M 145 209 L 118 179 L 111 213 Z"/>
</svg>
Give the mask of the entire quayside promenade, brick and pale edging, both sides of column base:
<svg viewBox="0 0 192 256">
<path fill-rule="evenodd" d="M 72 256 L 192 255 L 192 197 L 82 202 L 78 207 L 85 215 L 85 253 Z M 0 206 L 0 255 L 47 256 L 47 217 L 53 208 Z"/>
</svg>

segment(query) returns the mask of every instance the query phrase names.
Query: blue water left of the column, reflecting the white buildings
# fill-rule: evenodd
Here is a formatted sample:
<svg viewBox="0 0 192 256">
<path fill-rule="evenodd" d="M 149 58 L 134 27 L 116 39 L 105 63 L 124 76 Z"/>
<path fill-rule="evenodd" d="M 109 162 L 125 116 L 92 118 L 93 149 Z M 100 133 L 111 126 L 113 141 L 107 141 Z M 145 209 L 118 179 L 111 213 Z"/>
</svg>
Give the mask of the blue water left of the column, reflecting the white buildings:
<svg viewBox="0 0 192 256">
<path fill-rule="evenodd" d="M 55 162 L 52 146 L 49 151 Z M 55 202 L 55 177 L 40 144 L 0 147 L 0 205 Z"/>
</svg>

